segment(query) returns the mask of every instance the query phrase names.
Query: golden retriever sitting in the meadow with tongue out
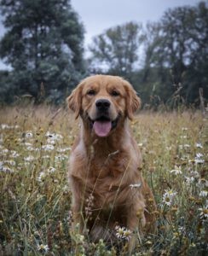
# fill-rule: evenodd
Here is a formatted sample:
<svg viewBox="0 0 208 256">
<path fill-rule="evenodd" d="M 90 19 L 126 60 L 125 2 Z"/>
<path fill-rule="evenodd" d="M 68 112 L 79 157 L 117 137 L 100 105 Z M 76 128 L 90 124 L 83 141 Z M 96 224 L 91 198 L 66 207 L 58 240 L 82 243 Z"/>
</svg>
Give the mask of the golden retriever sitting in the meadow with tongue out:
<svg viewBox="0 0 208 256">
<path fill-rule="evenodd" d="M 78 84 L 67 102 L 81 121 L 69 164 L 73 227 L 89 232 L 92 241 L 111 242 L 118 226 L 128 229 L 131 250 L 137 237 L 155 228 L 153 193 L 129 126 L 140 98 L 124 79 L 95 75 Z"/>
</svg>

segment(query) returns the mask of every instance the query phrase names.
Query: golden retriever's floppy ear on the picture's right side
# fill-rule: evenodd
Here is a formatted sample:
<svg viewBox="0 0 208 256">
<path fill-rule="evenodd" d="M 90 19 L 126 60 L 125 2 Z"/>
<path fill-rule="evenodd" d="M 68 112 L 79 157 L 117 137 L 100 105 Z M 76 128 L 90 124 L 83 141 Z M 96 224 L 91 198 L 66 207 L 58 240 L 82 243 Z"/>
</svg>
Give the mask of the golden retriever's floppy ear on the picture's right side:
<svg viewBox="0 0 208 256">
<path fill-rule="evenodd" d="M 126 111 L 130 120 L 134 118 L 134 113 L 141 107 L 141 100 L 136 95 L 136 91 L 129 82 L 124 80 L 124 88 L 126 90 Z"/>
</svg>

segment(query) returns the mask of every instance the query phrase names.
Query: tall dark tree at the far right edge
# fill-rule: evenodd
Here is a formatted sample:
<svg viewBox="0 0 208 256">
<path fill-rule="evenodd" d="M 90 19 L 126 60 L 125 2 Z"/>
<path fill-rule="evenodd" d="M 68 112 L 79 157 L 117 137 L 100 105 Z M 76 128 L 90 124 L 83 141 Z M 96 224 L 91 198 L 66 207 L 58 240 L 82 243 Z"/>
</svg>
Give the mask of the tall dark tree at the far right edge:
<svg viewBox="0 0 208 256">
<path fill-rule="evenodd" d="M 147 27 L 146 73 L 157 70 L 160 88 L 172 94 L 182 88 L 187 102 L 196 102 L 199 87 L 207 94 L 208 9 L 197 6 L 169 9 L 157 24 Z M 147 82 L 147 75 L 144 77 Z M 171 81 L 168 83 L 167 81 Z M 165 88 L 166 86 L 166 88 Z M 164 94 L 164 99 L 168 94 Z"/>
</svg>

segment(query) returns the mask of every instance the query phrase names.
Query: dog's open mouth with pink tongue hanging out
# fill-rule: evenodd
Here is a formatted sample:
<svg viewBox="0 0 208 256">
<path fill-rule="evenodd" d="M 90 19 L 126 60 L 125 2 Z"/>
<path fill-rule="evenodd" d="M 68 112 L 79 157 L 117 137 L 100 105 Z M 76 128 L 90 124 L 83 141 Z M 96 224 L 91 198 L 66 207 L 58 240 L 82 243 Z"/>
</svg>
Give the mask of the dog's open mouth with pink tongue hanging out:
<svg viewBox="0 0 208 256">
<path fill-rule="evenodd" d="M 119 117 L 119 116 L 118 116 Z M 101 116 L 98 119 L 90 119 L 91 127 L 95 131 L 98 137 L 107 137 L 110 131 L 112 131 L 118 123 L 118 118 L 113 121 L 106 116 Z"/>
</svg>

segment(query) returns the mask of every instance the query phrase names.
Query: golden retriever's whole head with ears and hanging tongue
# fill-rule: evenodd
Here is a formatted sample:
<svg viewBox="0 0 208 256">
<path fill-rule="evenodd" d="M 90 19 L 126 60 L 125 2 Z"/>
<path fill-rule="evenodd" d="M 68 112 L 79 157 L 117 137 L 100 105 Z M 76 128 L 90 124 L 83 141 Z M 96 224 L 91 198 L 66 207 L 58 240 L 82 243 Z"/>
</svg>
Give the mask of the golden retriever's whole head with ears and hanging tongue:
<svg viewBox="0 0 208 256">
<path fill-rule="evenodd" d="M 140 99 L 132 86 L 116 76 L 84 79 L 67 98 L 69 108 L 89 122 L 98 137 L 107 137 L 121 119 L 133 118 Z"/>
</svg>

